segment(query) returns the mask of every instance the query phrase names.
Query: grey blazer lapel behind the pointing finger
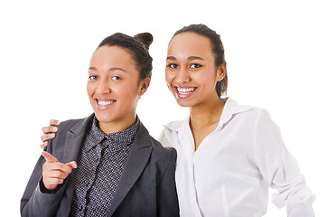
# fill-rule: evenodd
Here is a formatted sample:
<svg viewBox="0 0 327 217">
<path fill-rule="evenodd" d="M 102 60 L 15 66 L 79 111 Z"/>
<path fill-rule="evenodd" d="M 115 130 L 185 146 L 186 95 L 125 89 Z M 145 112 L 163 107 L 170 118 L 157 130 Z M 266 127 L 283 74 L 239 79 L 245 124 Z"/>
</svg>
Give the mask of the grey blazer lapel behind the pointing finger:
<svg viewBox="0 0 327 217">
<path fill-rule="evenodd" d="M 70 161 L 77 161 L 79 158 L 80 146 L 83 143 L 83 138 L 89 125 L 92 123 L 94 114 L 80 121 L 77 125 L 70 128 L 66 135 L 66 142 L 63 153 L 63 162 L 69 163 Z M 72 197 L 74 193 L 76 170 L 73 169 L 71 174 L 67 177 L 66 193 L 68 197 L 68 207 L 71 207 Z"/>
</svg>

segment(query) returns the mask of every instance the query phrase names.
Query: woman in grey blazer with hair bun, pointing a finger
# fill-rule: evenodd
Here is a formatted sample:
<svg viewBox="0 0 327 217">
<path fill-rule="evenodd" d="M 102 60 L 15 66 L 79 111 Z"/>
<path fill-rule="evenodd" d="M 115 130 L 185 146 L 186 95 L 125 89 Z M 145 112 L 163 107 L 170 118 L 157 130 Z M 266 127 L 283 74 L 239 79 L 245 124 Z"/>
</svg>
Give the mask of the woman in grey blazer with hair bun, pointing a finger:
<svg viewBox="0 0 327 217">
<path fill-rule="evenodd" d="M 116 33 L 89 66 L 94 114 L 64 121 L 21 200 L 22 216 L 178 216 L 176 151 L 163 148 L 136 116 L 152 71 L 150 33 Z"/>
</svg>

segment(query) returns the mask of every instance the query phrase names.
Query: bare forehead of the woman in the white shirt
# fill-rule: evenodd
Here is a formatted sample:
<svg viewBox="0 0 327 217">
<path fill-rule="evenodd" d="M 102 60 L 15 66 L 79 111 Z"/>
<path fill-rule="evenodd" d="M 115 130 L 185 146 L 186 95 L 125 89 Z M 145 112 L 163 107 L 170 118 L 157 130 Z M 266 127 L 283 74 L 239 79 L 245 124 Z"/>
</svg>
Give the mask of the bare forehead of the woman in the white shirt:
<svg viewBox="0 0 327 217">
<path fill-rule="evenodd" d="M 173 37 L 168 45 L 168 55 L 177 53 L 195 54 L 212 54 L 211 42 L 209 38 L 198 33 L 179 33 Z"/>
</svg>

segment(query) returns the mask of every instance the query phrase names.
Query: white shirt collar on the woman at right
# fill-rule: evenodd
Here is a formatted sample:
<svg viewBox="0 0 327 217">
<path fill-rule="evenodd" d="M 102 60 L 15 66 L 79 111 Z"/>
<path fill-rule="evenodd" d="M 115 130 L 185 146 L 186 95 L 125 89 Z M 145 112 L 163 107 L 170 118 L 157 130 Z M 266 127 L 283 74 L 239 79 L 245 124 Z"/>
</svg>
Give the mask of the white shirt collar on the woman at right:
<svg viewBox="0 0 327 217">
<path fill-rule="evenodd" d="M 227 124 L 229 120 L 233 118 L 233 116 L 237 115 L 238 113 L 248 111 L 250 109 L 252 109 L 252 107 L 238 105 L 237 101 L 227 98 L 224 109 L 222 110 L 221 113 L 220 123 L 218 124 L 217 128 Z M 167 125 L 164 125 L 163 127 L 172 129 L 174 131 L 181 131 L 184 127 L 189 127 L 189 122 L 190 122 L 190 114 L 181 121 L 173 121 Z"/>
</svg>

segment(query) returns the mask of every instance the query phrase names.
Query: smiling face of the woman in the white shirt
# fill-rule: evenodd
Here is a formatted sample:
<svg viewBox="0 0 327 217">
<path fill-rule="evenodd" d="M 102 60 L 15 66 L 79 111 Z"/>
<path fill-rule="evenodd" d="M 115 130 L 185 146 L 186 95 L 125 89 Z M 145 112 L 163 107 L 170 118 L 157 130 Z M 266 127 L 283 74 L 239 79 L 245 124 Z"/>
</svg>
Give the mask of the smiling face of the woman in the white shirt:
<svg viewBox="0 0 327 217">
<path fill-rule="evenodd" d="M 215 87 L 224 77 L 221 72 L 207 37 L 180 33 L 169 43 L 165 79 L 180 106 L 193 107 L 217 100 Z"/>
</svg>

